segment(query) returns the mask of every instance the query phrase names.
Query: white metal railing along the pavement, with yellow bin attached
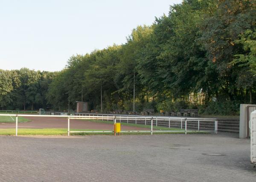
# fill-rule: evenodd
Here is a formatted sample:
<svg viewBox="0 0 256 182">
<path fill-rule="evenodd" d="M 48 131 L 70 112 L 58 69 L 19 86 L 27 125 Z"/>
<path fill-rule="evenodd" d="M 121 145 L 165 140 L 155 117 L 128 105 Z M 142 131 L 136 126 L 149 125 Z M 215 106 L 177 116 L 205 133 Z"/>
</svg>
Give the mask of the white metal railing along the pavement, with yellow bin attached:
<svg viewBox="0 0 256 182">
<path fill-rule="evenodd" d="M 89 114 L 85 115 L 85 116 L 80 116 L 79 115 L 75 115 L 75 116 L 64 116 L 64 115 L 29 115 L 29 114 L 0 114 L 0 116 L 15 116 L 16 117 L 16 136 L 17 136 L 17 128 L 18 128 L 18 117 L 22 116 L 22 117 L 63 117 L 63 118 L 67 118 L 67 122 L 68 122 L 68 128 L 67 128 L 67 133 L 68 136 L 70 135 L 70 133 L 93 133 L 97 131 L 70 131 L 70 119 L 94 119 L 94 120 L 105 120 L 105 121 L 113 121 L 113 123 L 116 123 L 117 121 L 122 122 L 131 122 L 135 120 L 135 124 L 137 124 L 138 121 L 143 121 L 145 122 L 145 125 L 147 124 L 147 122 L 150 121 L 151 124 L 151 130 L 150 131 L 121 131 L 121 132 L 151 132 L 151 134 L 153 132 L 184 132 L 185 134 L 187 134 L 187 122 L 192 122 L 192 121 L 197 121 L 198 123 L 198 130 L 197 131 L 214 131 L 215 134 L 217 134 L 218 132 L 218 120 L 217 119 L 207 119 L 207 118 L 180 118 L 180 117 L 143 117 L 143 116 L 114 116 L 114 115 L 107 115 L 107 114 Z M 161 121 L 161 122 L 168 122 L 169 123 L 169 128 L 170 128 L 170 122 L 172 121 L 180 121 L 180 128 L 183 129 L 183 124 L 184 124 L 184 130 L 179 130 L 179 131 L 172 131 L 172 130 L 153 130 L 153 122 L 155 120 L 155 125 L 157 126 L 157 120 Z M 200 121 L 207 121 L 207 122 L 214 122 L 214 130 L 200 130 Z M 101 132 L 107 132 L 107 131 L 99 131 L 99 133 Z M 109 131 L 109 132 L 113 132 L 113 131 Z"/>
</svg>

